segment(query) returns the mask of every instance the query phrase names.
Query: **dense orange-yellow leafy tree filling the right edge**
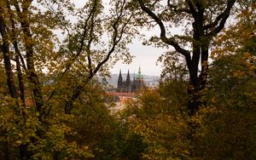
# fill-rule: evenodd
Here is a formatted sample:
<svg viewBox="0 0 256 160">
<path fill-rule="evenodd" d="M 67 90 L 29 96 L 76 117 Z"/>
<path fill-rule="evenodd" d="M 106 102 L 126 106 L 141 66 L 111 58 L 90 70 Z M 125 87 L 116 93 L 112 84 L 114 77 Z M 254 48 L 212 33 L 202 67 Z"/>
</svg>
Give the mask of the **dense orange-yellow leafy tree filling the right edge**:
<svg viewBox="0 0 256 160">
<path fill-rule="evenodd" d="M 201 111 L 195 155 L 206 159 L 254 159 L 255 3 L 242 1 L 236 25 L 214 41 L 209 67 L 208 109 Z"/>
</svg>

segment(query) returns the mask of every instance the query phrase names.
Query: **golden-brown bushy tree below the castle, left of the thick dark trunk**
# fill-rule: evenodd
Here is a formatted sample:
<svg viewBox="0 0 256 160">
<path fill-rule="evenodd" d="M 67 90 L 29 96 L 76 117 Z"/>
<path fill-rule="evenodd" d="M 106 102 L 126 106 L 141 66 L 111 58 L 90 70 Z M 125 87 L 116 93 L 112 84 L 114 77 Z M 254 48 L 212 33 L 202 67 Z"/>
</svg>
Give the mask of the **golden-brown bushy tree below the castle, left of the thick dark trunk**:
<svg viewBox="0 0 256 160">
<path fill-rule="evenodd" d="M 128 125 L 130 134 L 138 135 L 145 159 L 189 158 L 189 125 L 183 106 L 185 100 L 177 101 L 182 94 L 169 94 L 177 83 L 166 82 L 160 89 L 148 89 L 137 100 L 126 104 L 121 117 Z M 183 89 L 183 87 L 181 87 Z M 166 92 L 169 91 L 169 92 Z M 184 97 L 184 96 L 183 96 Z M 137 147 L 133 150 L 137 150 Z"/>
</svg>

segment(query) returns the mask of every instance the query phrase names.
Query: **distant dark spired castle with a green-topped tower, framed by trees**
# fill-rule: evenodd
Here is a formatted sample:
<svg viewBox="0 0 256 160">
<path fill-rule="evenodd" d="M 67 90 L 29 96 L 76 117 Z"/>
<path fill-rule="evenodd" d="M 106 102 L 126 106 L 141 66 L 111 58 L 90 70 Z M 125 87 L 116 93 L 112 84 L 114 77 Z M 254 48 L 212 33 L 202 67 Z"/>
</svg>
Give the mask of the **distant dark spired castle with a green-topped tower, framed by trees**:
<svg viewBox="0 0 256 160">
<path fill-rule="evenodd" d="M 144 82 L 143 82 L 143 75 L 141 72 L 141 67 L 139 67 L 137 77 L 135 77 L 135 74 L 134 74 L 132 81 L 130 78 L 129 70 L 128 70 L 127 77 L 126 77 L 125 81 L 123 81 L 121 70 L 119 71 L 117 92 L 133 93 L 133 92 L 137 92 L 143 88 L 144 88 Z"/>
</svg>

